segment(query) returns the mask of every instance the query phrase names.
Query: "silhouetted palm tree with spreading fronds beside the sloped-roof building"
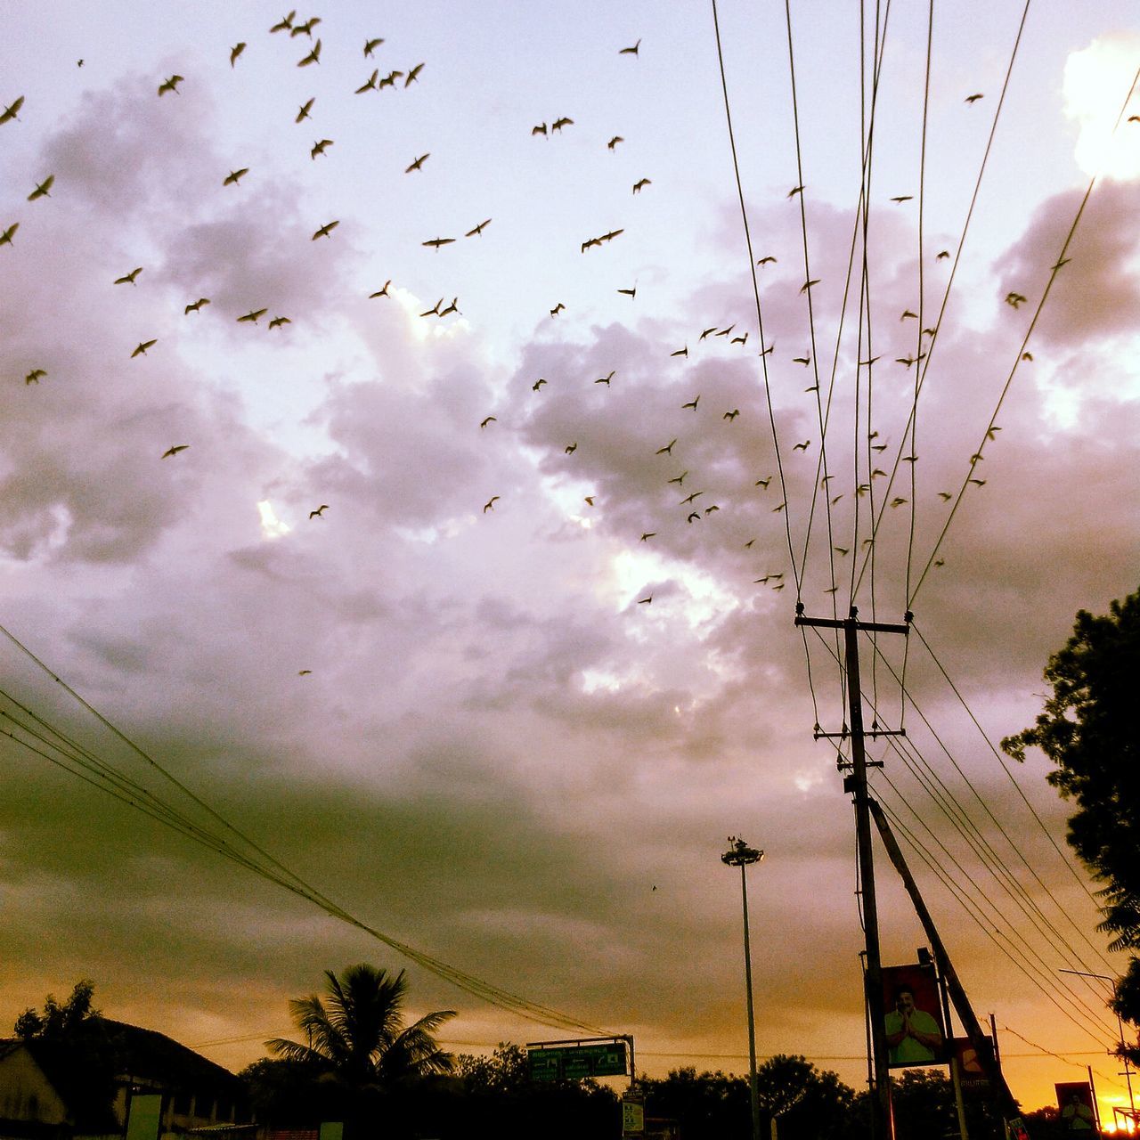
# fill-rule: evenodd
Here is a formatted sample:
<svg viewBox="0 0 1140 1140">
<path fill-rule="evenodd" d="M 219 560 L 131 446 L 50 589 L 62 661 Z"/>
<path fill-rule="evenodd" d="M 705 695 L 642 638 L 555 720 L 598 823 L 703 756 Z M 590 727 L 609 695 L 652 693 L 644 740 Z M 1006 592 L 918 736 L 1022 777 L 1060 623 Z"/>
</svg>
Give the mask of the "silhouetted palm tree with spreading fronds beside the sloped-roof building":
<svg viewBox="0 0 1140 1140">
<path fill-rule="evenodd" d="M 405 1026 L 407 988 L 404 970 L 392 976 L 367 963 L 350 966 L 340 977 L 325 970 L 324 1000 L 310 994 L 288 1003 L 293 1023 L 309 1043 L 274 1037 L 266 1048 L 285 1060 L 331 1072 L 355 1088 L 450 1073 L 455 1058 L 432 1034 L 455 1010 L 438 1010 Z"/>
</svg>

